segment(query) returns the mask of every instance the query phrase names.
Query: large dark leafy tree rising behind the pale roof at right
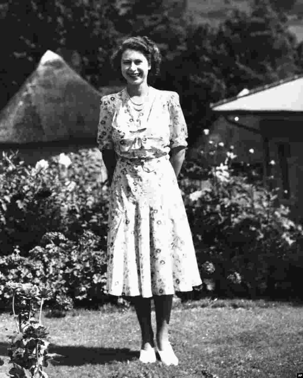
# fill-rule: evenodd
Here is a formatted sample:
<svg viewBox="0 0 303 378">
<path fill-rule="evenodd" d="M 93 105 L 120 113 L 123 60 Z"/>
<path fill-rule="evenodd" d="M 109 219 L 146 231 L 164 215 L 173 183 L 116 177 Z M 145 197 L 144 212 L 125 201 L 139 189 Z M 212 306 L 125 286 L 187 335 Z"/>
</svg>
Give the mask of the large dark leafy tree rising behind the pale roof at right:
<svg viewBox="0 0 303 378">
<path fill-rule="evenodd" d="M 250 14 L 234 11 L 217 29 L 193 28 L 171 72 L 193 141 L 212 122 L 210 102 L 300 72 L 296 45 L 284 15 L 261 0 Z"/>
</svg>

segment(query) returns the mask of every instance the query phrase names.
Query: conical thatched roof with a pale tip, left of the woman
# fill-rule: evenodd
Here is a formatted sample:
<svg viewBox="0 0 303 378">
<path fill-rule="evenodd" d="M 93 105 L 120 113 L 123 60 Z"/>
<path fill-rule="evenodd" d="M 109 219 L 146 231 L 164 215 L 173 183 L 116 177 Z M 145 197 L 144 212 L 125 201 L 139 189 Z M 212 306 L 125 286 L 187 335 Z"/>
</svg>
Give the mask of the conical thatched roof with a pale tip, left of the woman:
<svg viewBox="0 0 303 378">
<path fill-rule="evenodd" d="M 95 138 L 100 92 L 48 50 L 0 113 L 0 143 Z"/>
</svg>

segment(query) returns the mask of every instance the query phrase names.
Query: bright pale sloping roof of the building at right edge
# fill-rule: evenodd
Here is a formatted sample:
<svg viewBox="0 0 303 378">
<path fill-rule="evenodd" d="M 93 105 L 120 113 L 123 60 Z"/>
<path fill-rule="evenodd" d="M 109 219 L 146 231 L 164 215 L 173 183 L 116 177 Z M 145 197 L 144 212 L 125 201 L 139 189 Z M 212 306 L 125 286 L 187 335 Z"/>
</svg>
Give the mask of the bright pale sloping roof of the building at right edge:
<svg viewBox="0 0 303 378">
<path fill-rule="evenodd" d="M 303 74 L 263 85 L 238 96 L 211 104 L 214 112 L 222 114 L 263 114 L 303 112 Z"/>
</svg>

